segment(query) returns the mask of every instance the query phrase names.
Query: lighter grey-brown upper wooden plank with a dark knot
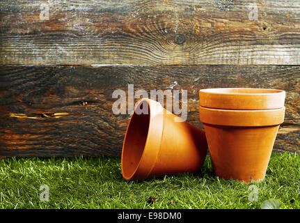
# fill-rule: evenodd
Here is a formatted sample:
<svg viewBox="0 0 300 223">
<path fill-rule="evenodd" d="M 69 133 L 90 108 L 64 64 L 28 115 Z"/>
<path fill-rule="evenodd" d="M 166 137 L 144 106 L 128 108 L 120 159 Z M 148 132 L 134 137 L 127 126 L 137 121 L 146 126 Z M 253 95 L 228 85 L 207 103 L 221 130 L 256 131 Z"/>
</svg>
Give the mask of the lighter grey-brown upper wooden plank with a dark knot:
<svg viewBox="0 0 300 223">
<path fill-rule="evenodd" d="M 300 65 L 300 1 L 256 4 L 1 0 L 0 64 Z"/>
</svg>

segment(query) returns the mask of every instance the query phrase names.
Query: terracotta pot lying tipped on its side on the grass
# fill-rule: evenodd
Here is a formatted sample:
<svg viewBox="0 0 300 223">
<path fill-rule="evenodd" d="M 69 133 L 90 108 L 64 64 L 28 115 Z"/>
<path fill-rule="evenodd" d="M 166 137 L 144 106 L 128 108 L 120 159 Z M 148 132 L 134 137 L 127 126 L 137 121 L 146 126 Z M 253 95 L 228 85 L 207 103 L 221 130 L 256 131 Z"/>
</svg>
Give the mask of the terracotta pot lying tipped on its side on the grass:
<svg viewBox="0 0 300 223">
<path fill-rule="evenodd" d="M 122 151 L 125 180 L 144 180 L 200 169 L 207 152 L 203 130 L 167 112 L 159 102 L 142 99 L 148 114 L 130 118 Z M 136 107 L 136 108 L 137 108 Z"/>
</svg>

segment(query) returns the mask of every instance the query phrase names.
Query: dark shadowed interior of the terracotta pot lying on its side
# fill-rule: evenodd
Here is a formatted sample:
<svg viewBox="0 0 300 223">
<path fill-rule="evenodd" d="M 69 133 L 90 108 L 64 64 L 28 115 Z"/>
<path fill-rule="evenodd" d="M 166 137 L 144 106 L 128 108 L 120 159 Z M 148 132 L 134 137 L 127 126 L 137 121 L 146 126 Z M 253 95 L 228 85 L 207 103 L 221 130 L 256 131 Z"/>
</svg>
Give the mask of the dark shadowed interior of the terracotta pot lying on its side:
<svg viewBox="0 0 300 223">
<path fill-rule="evenodd" d="M 143 101 L 138 105 L 138 107 L 143 109 L 144 104 L 148 105 L 147 102 Z M 147 114 L 136 114 L 136 112 L 134 112 L 130 119 L 122 154 L 122 171 L 123 175 L 127 179 L 132 177 L 139 165 L 145 148 L 145 143 L 147 141 L 149 124 L 149 105 Z"/>
</svg>

